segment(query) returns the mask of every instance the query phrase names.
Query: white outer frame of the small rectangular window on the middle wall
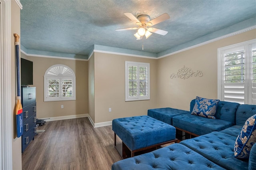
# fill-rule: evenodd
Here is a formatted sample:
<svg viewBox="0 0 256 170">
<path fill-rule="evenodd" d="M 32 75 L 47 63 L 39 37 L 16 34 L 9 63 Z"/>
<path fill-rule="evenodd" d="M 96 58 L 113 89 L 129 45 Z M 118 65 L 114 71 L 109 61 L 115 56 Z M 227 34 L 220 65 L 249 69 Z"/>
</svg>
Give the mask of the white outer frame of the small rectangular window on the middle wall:
<svg viewBox="0 0 256 170">
<path fill-rule="evenodd" d="M 148 71 L 148 95 L 147 96 L 129 96 L 129 67 L 128 65 L 146 65 Z M 139 84 L 139 83 L 138 83 Z M 140 63 L 133 61 L 125 61 L 125 101 L 150 100 L 150 63 Z"/>
</svg>

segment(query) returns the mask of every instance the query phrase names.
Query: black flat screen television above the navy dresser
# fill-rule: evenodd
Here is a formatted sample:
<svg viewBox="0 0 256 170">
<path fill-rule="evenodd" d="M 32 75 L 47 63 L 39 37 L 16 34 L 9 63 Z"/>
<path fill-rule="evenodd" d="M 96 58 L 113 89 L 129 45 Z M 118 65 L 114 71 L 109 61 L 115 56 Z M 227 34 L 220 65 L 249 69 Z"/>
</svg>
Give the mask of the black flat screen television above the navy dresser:
<svg viewBox="0 0 256 170">
<path fill-rule="evenodd" d="M 21 85 L 33 85 L 33 61 L 20 59 L 20 82 Z"/>
</svg>

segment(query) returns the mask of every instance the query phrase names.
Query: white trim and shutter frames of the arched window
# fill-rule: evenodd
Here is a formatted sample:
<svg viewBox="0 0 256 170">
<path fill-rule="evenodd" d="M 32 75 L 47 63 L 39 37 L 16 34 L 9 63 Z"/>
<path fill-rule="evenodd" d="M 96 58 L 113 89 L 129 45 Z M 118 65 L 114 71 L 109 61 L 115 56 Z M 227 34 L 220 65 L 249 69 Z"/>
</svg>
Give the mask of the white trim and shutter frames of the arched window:
<svg viewBox="0 0 256 170">
<path fill-rule="evenodd" d="M 57 66 L 62 66 L 62 67 L 66 67 L 68 68 L 71 72 L 72 72 L 72 76 L 47 76 L 48 72 L 50 71 L 50 69 L 52 69 L 53 67 L 57 67 Z M 62 85 L 62 79 L 72 79 L 72 97 L 62 97 L 62 95 L 60 95 L 60 97 L 58 98 L 48 98 L 48 79 L 59 79 L 60 80 L 60 85 Z M 62 93 L 61 91 L 61 87 L 60 87 L 60 94 Z M 68 100 L 76 100 L 76 76 L 74 71 L 66 66 L 66 65 L 62 65 L 62 64 L 56 64 L 56 65 L 52 65 L 51 67 L 49 67 L 46 72 L 44 73 L 44 101 L 68 101 Z"/>
</svg>

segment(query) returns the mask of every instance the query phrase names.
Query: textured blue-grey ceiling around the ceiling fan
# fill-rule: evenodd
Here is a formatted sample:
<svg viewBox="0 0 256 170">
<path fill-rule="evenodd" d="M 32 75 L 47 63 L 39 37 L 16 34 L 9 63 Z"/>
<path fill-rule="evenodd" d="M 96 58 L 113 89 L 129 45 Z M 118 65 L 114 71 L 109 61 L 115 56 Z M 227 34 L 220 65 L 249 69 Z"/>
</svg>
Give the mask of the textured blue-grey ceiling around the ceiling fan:
<svg viewBox="0 0 256 170">
<path fill-rule="evenodd" d="M 251 19 L 256 25 L 255 0 L 20 0 L 21 44 L 24 49 L 70 53 L 88 58 L 94 45 L 160 53 L 207 34 Z M 153 26 L 168 31 L 136 40 L 136 30 L 124 12 L 151 19 L 170 19 Z M 241 24 L 243 25 L 243 24 Z M 237 28 L 240 29 L 240 28 Z M 242 28 L 241 28 L 242 29 Z M 230 29 L 231 33 L 232 29 Z M 223 36 L 223 35 L 220 35 Z"/>
</svg>

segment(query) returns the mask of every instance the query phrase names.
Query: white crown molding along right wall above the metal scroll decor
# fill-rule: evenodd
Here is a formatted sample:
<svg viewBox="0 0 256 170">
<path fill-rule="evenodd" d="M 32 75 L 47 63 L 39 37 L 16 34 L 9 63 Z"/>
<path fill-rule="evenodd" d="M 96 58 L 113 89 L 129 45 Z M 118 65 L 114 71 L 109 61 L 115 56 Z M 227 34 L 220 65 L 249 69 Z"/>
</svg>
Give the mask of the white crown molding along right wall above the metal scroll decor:
<svg viewBox="0 0 256 170">
<path fill-rule="evenodd" d="M 174 52 L 172 52 L 172 53 L 168 53 L 168 54 L 159 56 L 159 57 L 157 57 L 157 59 L 164 58 L 164 57 L 168 57 L 168 56 L 170 56 L 170 55 L 174 55 L 174 54 L 180 53 L 180 52 L 182 52 L 182 51 L 186 51 L 186 50 L 189 50 L 189 49 L 193 49 L 193 48 L 196 48 L 196 47 L 200 47 L 200 46 L 202 46 L 202 45 L 206 45 L 206 44 L 208 44 L 208 43 L 216 42 L 216 41 L 218 41 L 218 40 L 222 40 L 222 39 L 224 39 L 224 38 L 228 38 L 228 37 L 231 37 L 231 36 L 235 36 L 235 35 L 237 35 L 237 34 L 241 34 L 241 33 L 244 33 L 244 32 L 250 31 L 250 30 L 254 30 L 254 29 L 256 29 L 256 25 L 255 25 L 255 26 L 251 26 L 251 27 L 249 27 L 249 28 L 245 28 L 245 29 L 243 29 L 243 30 L 239 30 L 239 31 L 236 31 L 236 32 L 232 32 L 232 33 L 230 33 L 230 34 L 226 34 L 225 36 L 220 36 L 220 37 L 218 37 L 218 38 L 214 38 L 214 39 L 209 40 L 209 41 L 206 41 L 206 42 L 202 42 L 202 43 L 199 43 L 199 44 L 196 44 L 196 45 L 192 45 L 192 46 L 190 46 L 190 47 L 187 47 L 187 48 L 184 48 L 184 49 L 180 49 L 180 50 L 174 51 Z"/>
</svg>

